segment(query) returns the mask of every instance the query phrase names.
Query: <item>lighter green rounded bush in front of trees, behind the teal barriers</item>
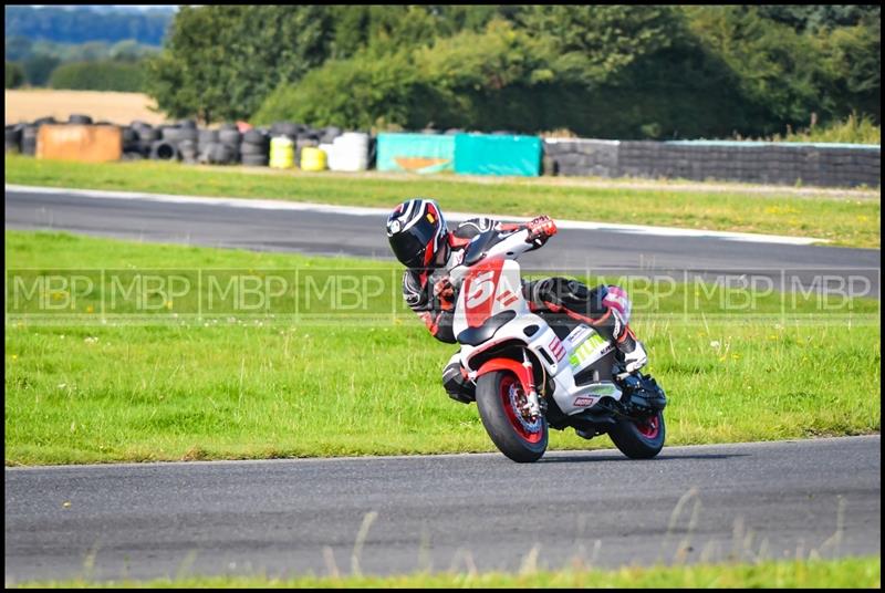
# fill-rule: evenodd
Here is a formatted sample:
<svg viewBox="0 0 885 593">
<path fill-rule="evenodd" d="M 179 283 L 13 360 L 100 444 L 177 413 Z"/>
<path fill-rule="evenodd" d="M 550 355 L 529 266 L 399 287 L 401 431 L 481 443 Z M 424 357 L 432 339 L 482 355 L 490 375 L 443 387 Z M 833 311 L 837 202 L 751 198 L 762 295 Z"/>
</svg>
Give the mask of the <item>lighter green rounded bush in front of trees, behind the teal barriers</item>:
<svg viewBox="0 0 885 593">
<path fill-rule="evenodd" d="M 528 132 L 543 115 L 532 108 L 534 87 L 551 76 L 529 35 L 492 21 L 483 33 L 466 31 L 433 48 L 384 55 L 362 50 L 348 60 L 331 60 L 298 84 L 277 89 L 252 119 Z"/>
</svg>

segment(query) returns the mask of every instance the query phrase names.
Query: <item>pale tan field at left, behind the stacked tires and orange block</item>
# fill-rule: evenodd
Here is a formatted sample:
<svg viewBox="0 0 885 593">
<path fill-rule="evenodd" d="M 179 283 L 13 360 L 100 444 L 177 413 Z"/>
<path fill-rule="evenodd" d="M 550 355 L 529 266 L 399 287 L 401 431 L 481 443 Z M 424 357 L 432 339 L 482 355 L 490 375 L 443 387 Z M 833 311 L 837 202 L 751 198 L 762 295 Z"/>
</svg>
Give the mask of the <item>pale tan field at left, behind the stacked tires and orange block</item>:
<svg viewBox="0 0 885 593">
<path fill-rule="evenodd" d="M 51 91 L 44 89 L 6 91 L 6 123 L 33 122 L 53 116 L 66 122 L 73 114 L 88 115 L 95 122 L 127 125 L 134 119 L 162 124 L 167 118 L 150 111 L 156 102 L 142 93 L 113 93 L 100 91 Z"/>
</svg>

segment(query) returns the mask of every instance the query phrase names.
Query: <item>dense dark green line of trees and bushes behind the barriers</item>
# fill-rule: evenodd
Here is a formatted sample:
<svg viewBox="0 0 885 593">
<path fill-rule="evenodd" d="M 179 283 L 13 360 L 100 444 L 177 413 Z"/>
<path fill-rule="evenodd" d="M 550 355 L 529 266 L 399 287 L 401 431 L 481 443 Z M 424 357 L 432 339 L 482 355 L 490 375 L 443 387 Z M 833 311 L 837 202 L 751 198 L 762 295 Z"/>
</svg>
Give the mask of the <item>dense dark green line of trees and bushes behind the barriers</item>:
<svg viewBox="0 0 885 593">
<path fill-rule="evenodd" d="M 771 135 L 881 116 L 878 6 L 183 7 L 171 116 L 351 128 Z"/>
</svg>

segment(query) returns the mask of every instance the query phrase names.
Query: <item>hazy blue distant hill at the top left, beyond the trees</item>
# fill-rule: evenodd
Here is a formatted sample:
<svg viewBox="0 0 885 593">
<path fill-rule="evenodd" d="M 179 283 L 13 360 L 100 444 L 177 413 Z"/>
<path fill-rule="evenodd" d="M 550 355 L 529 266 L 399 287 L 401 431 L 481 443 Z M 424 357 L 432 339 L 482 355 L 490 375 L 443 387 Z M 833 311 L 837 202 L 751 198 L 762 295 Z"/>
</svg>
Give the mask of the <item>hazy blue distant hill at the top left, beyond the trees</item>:
<svg viewBox="0 0 885 593">
<path fill-rule="evenodd" d="M 6 37 L 56 43 L 135 40 L 160 45 L 175 7 L 7 6 Z"/>
</svg>

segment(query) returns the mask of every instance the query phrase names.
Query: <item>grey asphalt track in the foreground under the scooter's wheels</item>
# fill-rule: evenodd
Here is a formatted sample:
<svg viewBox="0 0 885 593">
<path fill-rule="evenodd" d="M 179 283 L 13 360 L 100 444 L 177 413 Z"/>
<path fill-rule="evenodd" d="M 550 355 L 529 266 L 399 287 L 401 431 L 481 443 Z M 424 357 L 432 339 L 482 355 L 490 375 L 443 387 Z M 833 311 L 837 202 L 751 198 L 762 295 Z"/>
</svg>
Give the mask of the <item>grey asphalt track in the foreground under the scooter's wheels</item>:
<svg viewBox="0 0 885 593">
<path fill-rule="evenodd" d="M 7 468 L 6 580 L 878 555 L 881 445 Z"/>
</svg>

